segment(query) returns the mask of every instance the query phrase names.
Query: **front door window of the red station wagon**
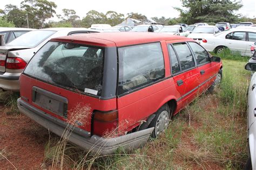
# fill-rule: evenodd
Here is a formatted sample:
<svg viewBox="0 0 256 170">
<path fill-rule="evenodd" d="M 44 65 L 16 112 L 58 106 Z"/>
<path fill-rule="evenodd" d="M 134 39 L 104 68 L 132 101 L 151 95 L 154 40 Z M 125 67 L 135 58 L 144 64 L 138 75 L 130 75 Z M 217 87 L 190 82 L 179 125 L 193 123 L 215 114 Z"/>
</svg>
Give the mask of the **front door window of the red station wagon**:
<svg viewBox="0 0 256 170">
<path fill-rule="evenodd" d="M 196 56 L 198 65 L 210 62 L 209 54 L 203 47 L 201 47 L 196 42 L 188 42 L 188 44 L 190 45 L 192 51 L 194 52 L 194 55 Z"/>
</svg>

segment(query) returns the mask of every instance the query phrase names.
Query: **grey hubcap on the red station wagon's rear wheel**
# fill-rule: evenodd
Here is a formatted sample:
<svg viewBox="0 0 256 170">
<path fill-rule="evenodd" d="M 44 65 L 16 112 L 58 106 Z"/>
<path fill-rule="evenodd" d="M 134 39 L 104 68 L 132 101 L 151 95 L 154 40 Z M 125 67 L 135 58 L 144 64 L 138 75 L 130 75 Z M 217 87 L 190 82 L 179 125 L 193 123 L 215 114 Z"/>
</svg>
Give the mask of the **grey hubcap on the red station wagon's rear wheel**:
<svg viewBox="0 0 256 170">
<path fill-rule="evenodd" d="M 155 134 L 156 137 L 159 136 L 161 132 L 164 132 L 164 130 L 167 128 L 169 123 L 169 114 L 166 110 L 162 111 L 161 114 L 158 116 L 156 127 L 155 127 Z"/>
</svg>

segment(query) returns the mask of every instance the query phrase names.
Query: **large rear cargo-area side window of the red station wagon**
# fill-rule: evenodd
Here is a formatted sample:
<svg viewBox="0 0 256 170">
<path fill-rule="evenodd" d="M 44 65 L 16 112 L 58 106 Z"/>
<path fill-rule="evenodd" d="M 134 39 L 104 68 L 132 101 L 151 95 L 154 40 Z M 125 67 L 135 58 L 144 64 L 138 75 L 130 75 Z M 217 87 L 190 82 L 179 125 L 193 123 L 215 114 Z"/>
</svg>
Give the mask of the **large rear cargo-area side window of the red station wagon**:
<svg viewBox="0 0 256 170">
<path fill-rule="evenodd" d="M 118 48 L 118 94 L 145 86 L 165 76 L 159 42 Z"/>
</svg>

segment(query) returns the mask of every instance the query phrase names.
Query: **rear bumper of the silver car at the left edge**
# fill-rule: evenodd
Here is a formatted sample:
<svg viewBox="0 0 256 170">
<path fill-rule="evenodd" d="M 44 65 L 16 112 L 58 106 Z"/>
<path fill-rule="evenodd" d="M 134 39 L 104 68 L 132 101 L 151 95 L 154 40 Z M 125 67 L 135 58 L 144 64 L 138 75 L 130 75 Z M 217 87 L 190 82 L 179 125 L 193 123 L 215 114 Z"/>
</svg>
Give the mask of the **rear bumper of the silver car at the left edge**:
<svg viewBox="0 0 256 170">
<path fill-rule="evenodd" d="M 19 91 L 20 73 L 0 74 L 0 88 L 7 91 Z"/>
</svg>

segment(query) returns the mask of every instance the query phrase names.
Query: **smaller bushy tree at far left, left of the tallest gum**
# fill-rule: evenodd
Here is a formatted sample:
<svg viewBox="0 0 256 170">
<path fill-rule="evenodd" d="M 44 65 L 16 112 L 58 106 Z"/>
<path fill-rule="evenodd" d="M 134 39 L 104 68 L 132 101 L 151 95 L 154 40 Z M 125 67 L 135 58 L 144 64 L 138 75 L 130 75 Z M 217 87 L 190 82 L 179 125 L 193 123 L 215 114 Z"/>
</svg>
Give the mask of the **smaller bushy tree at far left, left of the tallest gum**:
<svg viewBox="0 0 256 170">
<path fill-rule="evenodd" d="M 5 5 L 4 9 L 6 20 L 15 24 L 16 27 L 27 27 L 25 11 L 18 9 L 16 5 Z"/>
</svg>

